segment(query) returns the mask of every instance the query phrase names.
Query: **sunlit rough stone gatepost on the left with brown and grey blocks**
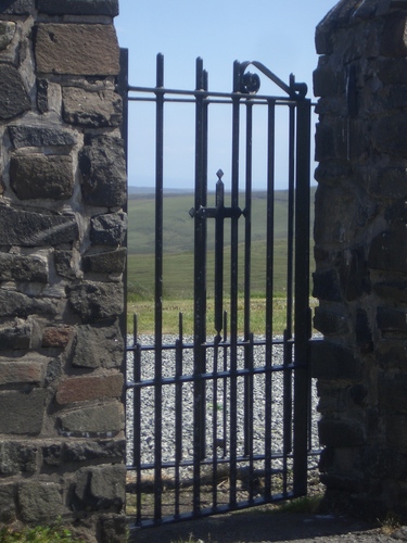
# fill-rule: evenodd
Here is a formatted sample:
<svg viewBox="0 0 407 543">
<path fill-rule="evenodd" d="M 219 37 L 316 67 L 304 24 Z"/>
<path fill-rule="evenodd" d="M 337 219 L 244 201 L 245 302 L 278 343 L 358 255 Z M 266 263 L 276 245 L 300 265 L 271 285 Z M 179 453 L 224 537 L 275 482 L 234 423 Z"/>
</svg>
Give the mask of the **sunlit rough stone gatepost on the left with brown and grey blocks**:
<svg viewBox="0 0 407 543">
<path fill-rule="evenodd" d="M 0 521 L 125 533 L 118 0 L 0 1 Z"/>
</svg>

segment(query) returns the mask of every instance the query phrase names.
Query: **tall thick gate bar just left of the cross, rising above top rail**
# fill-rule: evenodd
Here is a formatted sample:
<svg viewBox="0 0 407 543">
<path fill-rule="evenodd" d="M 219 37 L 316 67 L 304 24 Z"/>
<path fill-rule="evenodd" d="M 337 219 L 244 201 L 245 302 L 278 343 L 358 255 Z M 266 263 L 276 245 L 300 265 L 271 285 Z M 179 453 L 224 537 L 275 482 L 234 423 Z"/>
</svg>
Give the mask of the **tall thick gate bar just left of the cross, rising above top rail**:
<svg viewBox="0 0 407 543">
<path fill-rule="evenodd" d="M 207 77 L 202 59 L 196 59 L 196 87 L 205 89 Z M 194 384 L 193 384 L 193 510 L 200 513 L 201 460 L 206 455 L 206 382 L 200 376 L 206 371 L 206 218 L 198 213 L 206 206 L 207 178 L 207 105 L 201 93 L 195 96 L 195 216 L 194 216 Z"/>
</svg>

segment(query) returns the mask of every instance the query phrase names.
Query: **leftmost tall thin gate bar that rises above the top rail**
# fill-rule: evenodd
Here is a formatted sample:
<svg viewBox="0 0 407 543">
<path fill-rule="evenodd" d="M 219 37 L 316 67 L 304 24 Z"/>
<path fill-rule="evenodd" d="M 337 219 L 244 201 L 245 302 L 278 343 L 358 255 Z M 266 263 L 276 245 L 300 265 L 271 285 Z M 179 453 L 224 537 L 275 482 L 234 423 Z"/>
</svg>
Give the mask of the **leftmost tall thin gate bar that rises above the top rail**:
<svg viewBox="0 0 407 543">
<path fill-rule="evenodd" d="M 154 518 L 162 517 L 164 56 L 157 55 L 155 117 Z"/>
</svg>

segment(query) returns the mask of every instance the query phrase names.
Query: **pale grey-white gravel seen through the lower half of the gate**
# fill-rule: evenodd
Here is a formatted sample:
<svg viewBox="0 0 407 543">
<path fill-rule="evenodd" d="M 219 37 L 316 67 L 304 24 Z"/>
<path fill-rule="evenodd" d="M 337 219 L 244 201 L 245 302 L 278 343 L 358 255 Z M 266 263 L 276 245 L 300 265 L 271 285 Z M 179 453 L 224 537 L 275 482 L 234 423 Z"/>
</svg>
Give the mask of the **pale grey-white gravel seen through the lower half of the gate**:
<svg viewBox="0 0 407 543">
<path fill-rule="evenodd" d="M 264 338 L 255 338 L 260 341 Z M 129 345 L 131 345 L 131 338 Z M 177 340 L 175 336 L 165 336 L 165 344 L 174 344 Z M 277 340 L 277 338 L 276 338 Z M 143 345 L 151 345 L 154 338 L 151 336 L 143 336 L 139 339 Z M 185 343 L 192 343 L 191 338 L 185 338 Z M 256 346 L 254 350 L 254 366 L 264 366 L 265 348 Z M 282 345 L 274 345 L 272 348 L 272 365 L 279 366 L 283 362 L 283 348 Z M 228 362 L 226 361 L 226 364 Z M 242 368 L 243 350 L 239 348 L 238 368 Z M 174 377 L 175 375 L 175 352 L 174 350 L 164 350 L 162 357 L 162 371 L 163 377 Z M 224 358 L 219 354 L 218 371 L 224 369 Z M 133 353 L 127 354 L 127 380 L 133 379 Z M 214 370 L 214 350 L 207 350 L 207 372 Z M 154 378 L 154 351 L 143 351 L 141 358 L 141 380 L 149 380 Z M 192 349 L 183 350 L 182 357 L 182 375 L 191 376 L 193 372 L 193 351 Z M 217 382 L 217 390 L 214 389 L 214 383 Z M 272 372 L 271 377 L 271 452 L 279 453 L 283 449 L 283 375 L 280 371 Z M 216 445 L 217 457 L 221 458 L 224 455 L 228 457 L 230 454 L 230 387 L 225 388 L 225 381 L 217 379 L 216 381 L 209 379 L 206 382 L 206 456 L 209 460 L 213 457 L 213 426 L 216 426 Z M 293 387 L 291 386 L 291 391 Z M 162 409 L 163 409 L 163 425 L 162 425 L 162 457 L 163 462 L 175 460 L 175 413 L 176 413 L 176 386 L 164 384 L 162 387 Z M 183 382 L 181 387 L 181 408 L 182 408 L 182 460 L 192 460 L 193 458 L 193 383 Z M 243 449 L 243 399 L 244 399 L 244 378 L 238 378 L 238 430 L 237 430 L 237 445 L 238 456 L 244 454 Z M 265 405 L 265 376 L 256 375 L 253 379 L 253 453 L 262 455 L 265 453 L 265 420 L 266 420 L 266 405 Z M 311 421 L 311 435 L 313 449 L 318 449 L 317 437 L 317 420 L 318 413 L 317 394 L 315 383 L 311 386 L 311 405 L 313 405 L 313 421 Z M 127 391 L 127 464 L 133 464 L 133 421 L 138 414 L 133 411 L 133 391 Z M 140 413 L 140 447 L 141 447 L 141 463 L 152 464 L 154 462 L 154 389 L 153 387 L 141 388 L 141 413 Z M 220 446 L 219 446 L 220 445 Z M 224 445 L 224 446 L 222 446 Z M 309 464 L 316 465 L 317 456 L 310 457 Z M 289 460 L 291 462 L 291 460 Z M 272 467 L 279 469 L 282 467 L 282 460 L 272 460 Z"/>
</svg>

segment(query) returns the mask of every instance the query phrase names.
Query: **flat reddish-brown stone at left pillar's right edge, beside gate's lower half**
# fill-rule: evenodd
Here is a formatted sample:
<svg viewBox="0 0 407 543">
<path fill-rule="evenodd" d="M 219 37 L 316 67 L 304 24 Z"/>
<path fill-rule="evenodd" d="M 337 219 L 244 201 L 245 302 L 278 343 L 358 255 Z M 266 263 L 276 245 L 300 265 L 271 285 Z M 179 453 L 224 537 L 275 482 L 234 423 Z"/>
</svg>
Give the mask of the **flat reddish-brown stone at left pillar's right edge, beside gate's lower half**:
<svg viewBox="0 0 407 543">
<path fill-rule="evenodd" d="M 111 397 L 119 399 L 123 394 L 123 386 L 124 379 L 120 374 L 69 377 L 61 381 L 55 399 L 60 405 Z"/>
</svg>

